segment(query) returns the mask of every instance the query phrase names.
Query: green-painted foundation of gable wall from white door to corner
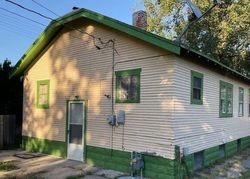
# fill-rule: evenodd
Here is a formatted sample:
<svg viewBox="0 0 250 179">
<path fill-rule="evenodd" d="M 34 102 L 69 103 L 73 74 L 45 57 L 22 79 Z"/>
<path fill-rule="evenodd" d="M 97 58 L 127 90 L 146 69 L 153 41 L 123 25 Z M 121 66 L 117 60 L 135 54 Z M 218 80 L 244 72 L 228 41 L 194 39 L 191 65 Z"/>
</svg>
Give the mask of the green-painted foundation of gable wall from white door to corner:
<svg viewBox="0 0 250 179">
<path fill-rule="evenodd" d="M 102 168 L 130 173 L 130 152 L 87 146 L 87 163 Z M 158 156 L 143 156 L 145 169 L 143 176 L 157 179 L 177 178 L 178 162 Z"/>
</svg>

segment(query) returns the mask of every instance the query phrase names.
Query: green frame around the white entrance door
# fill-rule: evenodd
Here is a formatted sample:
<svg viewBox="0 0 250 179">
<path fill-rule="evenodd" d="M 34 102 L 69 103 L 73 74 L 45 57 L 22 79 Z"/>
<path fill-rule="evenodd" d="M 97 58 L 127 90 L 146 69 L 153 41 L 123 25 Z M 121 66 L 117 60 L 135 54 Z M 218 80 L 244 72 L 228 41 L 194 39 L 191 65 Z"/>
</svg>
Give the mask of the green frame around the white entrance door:
<svg viewBox="0 0 250 179">
<path fill-rule="evenodd" d="M 86 161 L 87 158 L 87 145 L 86 145 L 86 134 L 87 134 L 87 106 L 88 106 L 88 100 L 67 100 L 66 101 L 66 124 L 65 124 L 65 147 L 66 147 L 66 159 L 68 159 L 68 125 L 69 125 L 69 104 L 70 103 L 83 103 L 83 111 L 84 111 L 84 119 L 83 119 L 83 160 L 82 162 Z"/>
</svg>

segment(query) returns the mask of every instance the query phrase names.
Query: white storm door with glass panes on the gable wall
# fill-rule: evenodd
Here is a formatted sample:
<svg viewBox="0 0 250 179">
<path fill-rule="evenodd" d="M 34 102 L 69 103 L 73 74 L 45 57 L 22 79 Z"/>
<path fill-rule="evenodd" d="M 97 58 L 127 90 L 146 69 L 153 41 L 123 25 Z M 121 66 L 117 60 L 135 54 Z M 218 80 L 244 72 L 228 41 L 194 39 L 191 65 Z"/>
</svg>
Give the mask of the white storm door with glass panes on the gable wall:
<svg viewBox="0 0 250 179">
<path fill-rule="evenodd" d="M 84 160 L 84 118 L 85 102 L 70 101 L 68 103 L 68 159 Z"/>
</svg>

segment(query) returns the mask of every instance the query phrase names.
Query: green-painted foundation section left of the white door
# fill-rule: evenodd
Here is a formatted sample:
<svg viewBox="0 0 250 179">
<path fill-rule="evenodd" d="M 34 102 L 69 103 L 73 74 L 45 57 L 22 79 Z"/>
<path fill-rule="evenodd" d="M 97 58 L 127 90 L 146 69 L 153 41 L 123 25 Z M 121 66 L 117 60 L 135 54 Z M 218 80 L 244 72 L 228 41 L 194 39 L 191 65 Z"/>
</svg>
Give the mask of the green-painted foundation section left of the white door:
<svg viewBox="0 0 250 179">
<path fill-rule="evenodd" d="M 22 136 L 22 148 L 27 151 L 41 152 L 62 158 L 67 157 L 67 144 L 61 141 Z"/>
</svg>

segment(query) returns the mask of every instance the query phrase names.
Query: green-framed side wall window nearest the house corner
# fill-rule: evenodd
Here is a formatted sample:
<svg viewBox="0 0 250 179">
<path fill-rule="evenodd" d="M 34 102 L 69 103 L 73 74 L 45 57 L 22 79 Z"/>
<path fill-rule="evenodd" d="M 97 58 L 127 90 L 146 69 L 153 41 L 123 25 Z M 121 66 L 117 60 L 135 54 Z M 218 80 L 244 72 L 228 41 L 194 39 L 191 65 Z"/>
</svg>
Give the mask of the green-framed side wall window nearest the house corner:
<svg viewBox="0 0 250 179">
<path fill-rule="evenodd" d="M 203 74 L 191 71 L 191 104 L 203 103 Z"/>
</svg>

